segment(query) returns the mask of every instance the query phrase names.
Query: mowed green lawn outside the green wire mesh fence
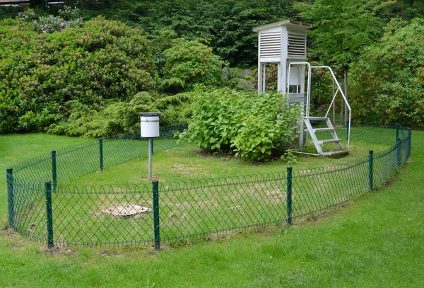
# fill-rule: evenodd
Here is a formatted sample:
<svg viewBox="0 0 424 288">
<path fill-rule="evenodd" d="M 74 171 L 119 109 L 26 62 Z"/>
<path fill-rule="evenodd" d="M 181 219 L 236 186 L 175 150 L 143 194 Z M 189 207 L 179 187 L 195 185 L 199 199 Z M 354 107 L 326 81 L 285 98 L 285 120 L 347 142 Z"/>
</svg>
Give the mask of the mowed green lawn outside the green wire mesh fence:
<svg viewBox="0 0 424 288">
<path fill-rule="evenodd" d="M 81 141 L 1 136 L 0 164 L 6 168 Z M 0 178 L 0 287 L 422 287 L 423 143 L 424 132 L 414 131 L 411 161 L 387 187 L 326 217 L 159 253 L 134 247 L 49 253 L 44 243 L 4 230 L 6 181 Z"/>
</svg>

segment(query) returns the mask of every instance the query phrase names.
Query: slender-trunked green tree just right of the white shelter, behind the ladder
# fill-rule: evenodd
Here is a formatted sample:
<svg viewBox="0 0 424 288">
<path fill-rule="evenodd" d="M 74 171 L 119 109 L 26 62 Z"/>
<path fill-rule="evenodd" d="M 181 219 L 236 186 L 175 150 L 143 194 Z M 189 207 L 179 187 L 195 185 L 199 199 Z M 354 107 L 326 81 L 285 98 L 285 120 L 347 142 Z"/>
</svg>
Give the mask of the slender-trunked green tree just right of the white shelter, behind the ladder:
<svg viewBox="0 0 424 288">
<path fill-rule="evenodd" d="M 300 2 L 295 5 L 300 16 L 314 25 L 310 31 L 312 58 L 343 72 L 346 97 L 349 65 L 363 47 L 382 34 L 384 23 L 377 17 L 377 11 L 389 3 L 378 0 L 316 0 L 312 4 Z"/>
</svg>

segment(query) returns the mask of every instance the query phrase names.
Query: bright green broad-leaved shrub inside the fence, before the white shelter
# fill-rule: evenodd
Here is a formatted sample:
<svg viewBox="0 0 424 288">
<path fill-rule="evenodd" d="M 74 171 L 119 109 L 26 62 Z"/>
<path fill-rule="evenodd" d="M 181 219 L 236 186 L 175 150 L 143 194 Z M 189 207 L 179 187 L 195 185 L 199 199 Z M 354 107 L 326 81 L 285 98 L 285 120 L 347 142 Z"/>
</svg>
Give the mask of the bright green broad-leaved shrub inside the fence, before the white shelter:
<svg viewBox="0 0 424 288">
<path fill-rule="evenodd" d="M 196 89 L 193 116 L 180 137 L 208 152 L 254 161 L 280 156 L 297 139 L 300 108 L 281 93 Z"/>
</svg>

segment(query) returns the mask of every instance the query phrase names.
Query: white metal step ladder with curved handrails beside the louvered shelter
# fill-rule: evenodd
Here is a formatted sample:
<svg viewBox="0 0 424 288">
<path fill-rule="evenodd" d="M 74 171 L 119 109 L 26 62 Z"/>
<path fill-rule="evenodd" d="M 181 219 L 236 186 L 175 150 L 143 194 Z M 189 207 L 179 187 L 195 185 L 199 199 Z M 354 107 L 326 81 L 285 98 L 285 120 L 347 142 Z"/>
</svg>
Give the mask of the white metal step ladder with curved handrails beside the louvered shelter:
<svg viewBox="0 0 424 288">
<path fill-rule="evenodd" d="M 305 64 L 308 67 L 308 79 L 307 79 L 307 100 L 306 100 L 306 106 L 305 106 L 305 115 L 303 116 L 303 123 L 306 126 L 306 130 L 308 134 L 310 134 L 311 138 L 312 138 L 312 142 L 314 143 L 315 148 L 317 149 L 318 154 L 312 154 L 312 155 L 319 155 L 319 156 L 335 156 L 335 155 L 343 155 L 343 154 L 348 154 L 349 151 L 349 144 L 350 144 L 350 140 L 351 140 L 351 106 L 348 103 L 348 100 L 346 100 L 346 97 L 343 93 L 343 91 L 341 90 L 340 84 L 338 83 L 336 76 L 334 76 L 334 72 L 333 70 L 328 67 L 328 66 L 310 66 L 310 64 L 308 62 L 292 62 L 288 65 L 288 86 L 287 86 L 287 91 L 288 94 L 290 91 L 290 67 L 293 64 Z M 336 83 L 337 85 L 337 90 L 336 93 L 334 93 L 333 96 L 333 100 L 331 100 L 331 104 L 329 105 L 328 110 L 326 111 L 326 114 L 324 115 L 324 117 L 314 117 L 314 116 L 310 116 L 310 91 L 311 91 L 311 71 L 312 69 L 329 69 L 329 71 L 331 72 L 331 76 L 333 76 L 334 79 L 334 83 Z M 332 125 L 328 115 L 331 109 L 331 105 L 333 105 L 334 100 L 336 99 L 337 93 L 340 92 L 341 96 L 343 97 L 344 102 L 346 103 L 346 106 L 348 107 L 349 110 L 349 122 L 348 122 L 348 145 L 347 145 L 347 150 L 343 150 L 343 147 L 341 146 L 341 139 L 338 139 L 337 134 L 336 134 L 336 129 L 334 129 L 334 126 Z M 290 95 L 289 95 L 290 97 Z M 311 120 L 312 121 L 319 121 L 319 122 L 325 122 L 326 127 L 320 127 L 320 128 L 314 128 L 312 127 L 311 124 Z M 302 128 L 303 130 L 303 128 Z M 329 139 L 321 139 L 319 140 L 317 138 L 317 132 L 329 132 L 331 134 L 331 138 Z M 306 143 L 307 143 L 307 139 L 308 137 L 306 137 Z M 323 151 L 322 149 L 322 144 L 327 144 L 327 143 L 335 143 L 337 150 L 333 150 L 333 151 Z M 301 153 L 301 152 L 298 152 Z M 308 154 L 308 153 L 306 153 Z"/>
</svg>

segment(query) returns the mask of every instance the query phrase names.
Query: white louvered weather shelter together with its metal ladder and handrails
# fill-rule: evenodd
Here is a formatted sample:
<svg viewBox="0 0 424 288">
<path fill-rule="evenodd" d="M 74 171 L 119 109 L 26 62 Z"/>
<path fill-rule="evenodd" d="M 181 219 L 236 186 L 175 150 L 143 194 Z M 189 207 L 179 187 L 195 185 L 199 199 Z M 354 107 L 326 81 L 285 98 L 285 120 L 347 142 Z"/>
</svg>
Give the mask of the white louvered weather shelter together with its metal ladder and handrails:
<svg viewBox="0 0 424 288">
<path fill-rule="evenodd" d="M 293 20 L 285 20 L 253 28 L 254 32 L 259 33 L 258 93 L 265 92 L 266 90 L 266 64 L 276 63 L 278 65 L 278 91 L 288 96 L 288 103 L 300 103 L 302 107 L 302 121 L 299 123 L 300 128 L 298 129 L 298 145 L 300 147 L 303 146 L 304 132 L 306 132 L 306 144 L 309 139 L 309 134 L 312 138 L 312 142 L 314 142 L 315 148 L 317 148 L 317 154 L 313 155 L 343 155 L 349 151 L 351 135 L 350 124 L 348 125 L 348 146 L 347 150 L 344 150 L 340 143 L 342 140 L 338 138 L 336 129 L 332 125 L 328 114 L 331 105 L 333 105 L 336 99 L 337 93 L 341 94 L 348 108 L 349 123 L 351 120 L 351 107 L 331 67 L 313 67 L 306 62 L 306 30 L 310 28 L 312 28 L 311 24 Z M 306 66 L 308 67 L 308 81 L 307 91 L 305 93 Z M 337 86 L 336 93 L 334 93 L 333 100 L 324 117 L 310 115 L 311 69 L 328 70 Z M 326 127 L 314 127 L 310 122 L 311 120 L 314 122 L 325 122 Z M 329 139 L 318 139 L 317 133 L 319 134 L 322 132 L 329 133 L 331 137 L 327 137 Z M 336 144 L 336 150 L 324 151 L 322 149 L 322 144 L 329 143 Z M 303 152 L 299 151 L 298 153 Z"/>
</svg>

